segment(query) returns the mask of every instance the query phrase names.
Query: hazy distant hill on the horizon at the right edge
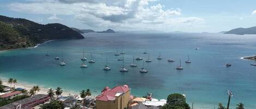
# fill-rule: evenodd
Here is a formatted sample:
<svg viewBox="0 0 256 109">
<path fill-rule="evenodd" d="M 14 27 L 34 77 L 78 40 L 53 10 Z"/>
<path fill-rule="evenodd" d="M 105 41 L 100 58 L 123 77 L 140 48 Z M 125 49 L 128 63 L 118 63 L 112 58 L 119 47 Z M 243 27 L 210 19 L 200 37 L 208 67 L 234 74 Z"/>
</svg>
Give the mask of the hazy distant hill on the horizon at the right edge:
<svg viewBox="0 0 256 109">
<path fill-rule="evenodd" d="M 237 34 L 237 35 L 256 34 L 256 27 L 236 28 L 236 29 L 232 29 L 230 31 L 227 31 L 225 34 Z"/>
</svg>

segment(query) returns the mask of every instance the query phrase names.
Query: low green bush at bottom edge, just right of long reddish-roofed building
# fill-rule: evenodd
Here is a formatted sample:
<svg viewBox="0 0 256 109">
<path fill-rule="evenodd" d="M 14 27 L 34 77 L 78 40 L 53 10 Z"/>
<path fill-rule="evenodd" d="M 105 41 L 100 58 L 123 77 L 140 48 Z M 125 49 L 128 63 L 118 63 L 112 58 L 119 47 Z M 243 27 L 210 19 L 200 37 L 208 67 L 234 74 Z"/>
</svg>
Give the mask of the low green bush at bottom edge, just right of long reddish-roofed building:
<svg viewBox="0 0 256 109">
<path fill-rule="evenodd" d="M 40 106 L 40 109 L 63 109 L 64 105 L 61 101 L 51 100 L 50 103 L 43 104 Z"/>
</svg>

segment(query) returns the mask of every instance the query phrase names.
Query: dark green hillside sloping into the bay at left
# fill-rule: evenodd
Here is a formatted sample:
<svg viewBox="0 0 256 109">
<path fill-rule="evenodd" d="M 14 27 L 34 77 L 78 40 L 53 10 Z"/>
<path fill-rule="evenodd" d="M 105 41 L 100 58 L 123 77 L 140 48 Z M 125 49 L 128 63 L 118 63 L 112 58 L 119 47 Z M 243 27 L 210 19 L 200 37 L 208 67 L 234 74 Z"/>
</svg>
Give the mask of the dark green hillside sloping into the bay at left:
<svg viewBox="0 0 256 109">
<path fill-rule="evenodd" d="M 0 15 L 0 50 L 33 47 L 55 39 L 84 39 L 84 36 L 63 24 L 44 25 Z"/>
</svg>

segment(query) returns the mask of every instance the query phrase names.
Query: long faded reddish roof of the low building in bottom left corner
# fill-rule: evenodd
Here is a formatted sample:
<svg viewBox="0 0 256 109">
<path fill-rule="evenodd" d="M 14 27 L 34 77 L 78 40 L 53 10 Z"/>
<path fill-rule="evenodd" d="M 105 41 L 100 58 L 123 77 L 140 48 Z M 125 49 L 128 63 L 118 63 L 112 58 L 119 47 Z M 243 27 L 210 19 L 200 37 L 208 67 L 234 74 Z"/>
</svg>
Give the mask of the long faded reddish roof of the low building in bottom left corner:
<svg viewBox="0 0 256 109">
<path fill-rule="evenodd" d="M 8 105 L 4 105 L 4 106 L 0 107 L 0 109 L 16 108 L 17 105 L 28 104 L 29 102 L 33 102 L 33 101 L 36 101 L 36 100 L 39 100 L 39 99 L 43 99 L 45 97 L 48 97 L 48 96 L 45 95 L 45 94 L 37 94 L 37 95 L 34 95 L 32 97 L 25 98 L 25 99 L 22 99 L 22 100 L 17 100 L 17 101 L 12 102 Z"/>
</svg>

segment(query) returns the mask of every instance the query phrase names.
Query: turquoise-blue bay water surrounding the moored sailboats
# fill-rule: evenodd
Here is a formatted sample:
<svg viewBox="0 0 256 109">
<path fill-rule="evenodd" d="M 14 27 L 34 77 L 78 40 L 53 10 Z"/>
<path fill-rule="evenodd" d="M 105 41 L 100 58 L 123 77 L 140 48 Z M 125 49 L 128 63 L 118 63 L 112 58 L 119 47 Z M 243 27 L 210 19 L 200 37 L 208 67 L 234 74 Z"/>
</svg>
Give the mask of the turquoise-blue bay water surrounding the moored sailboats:
<svg viewBox="0 0 256 109">
<path fill-rule="evenodd" d="M 217 107 L 218 102 L 227 104 L 228 89 L 235 92 L 231 108 L 243 102 L 246 108 L 256 108 L 256 67 L 243 56 L 256 54 L 255 35 L 224 34 L 84 34 L 83 40 L 56 40 L 37 48 L 8 50 L 0 53 L 0 76 L 16 78 L 44 87 L 63 87 L 67 91 L 90 88 L 100 93 L 105 86 L 127 84 L 136 96 L 153 93 L 153 98 L 166 99 L 170 93 L 187 95 L 196 108 Z M 200 48 L 195 50 L 195 47 Z M 116 48 L 124 48 L 124 62 L 128 73 L 120 73 L 122 61 L 114 56 Z M 86 57 L 92 53 L 96 63 L 80 68 L 82 50 Z M 133 56 L 147 57 L 148 73 L 139 73 L 142 61 L 135 61 L 137 68 L 129 67 Z M 50 56 L 45 56 L 49 52 Z M 157 60 L 159 52 L 163 60 Z M 59 66 L 54 57 L 63 53 L 66 66 Z M 188 54 L 192 63 L 186 64 Z M 104 71 L 108 57 L 110 71 Z M 167 62 L 172 57 L 173 63 Z M 175 67 L 182 60 L 183 70 Z M 230 68 L 223 67 L 231 62 Z"/>
</svg>

